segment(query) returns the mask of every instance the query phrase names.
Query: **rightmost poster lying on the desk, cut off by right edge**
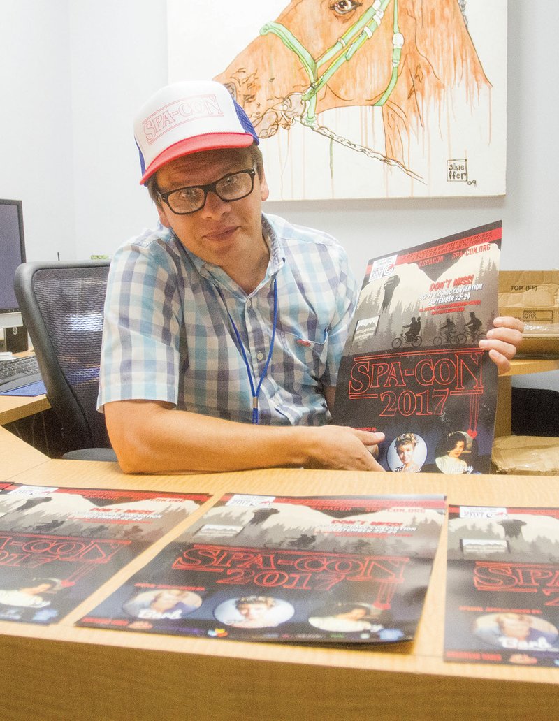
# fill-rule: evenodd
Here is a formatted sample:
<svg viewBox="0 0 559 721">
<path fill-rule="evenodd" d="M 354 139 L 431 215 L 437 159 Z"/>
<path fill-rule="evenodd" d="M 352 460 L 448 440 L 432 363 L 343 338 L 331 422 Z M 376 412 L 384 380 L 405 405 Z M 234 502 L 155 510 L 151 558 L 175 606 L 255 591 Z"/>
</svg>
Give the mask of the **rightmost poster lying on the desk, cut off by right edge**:
<svg viewBox="0 0 559 721">
<path fill-rule="evenodd" d="M 444 658 L 559 668 L 559 509 L 449 507 Z"/>
</svg>

